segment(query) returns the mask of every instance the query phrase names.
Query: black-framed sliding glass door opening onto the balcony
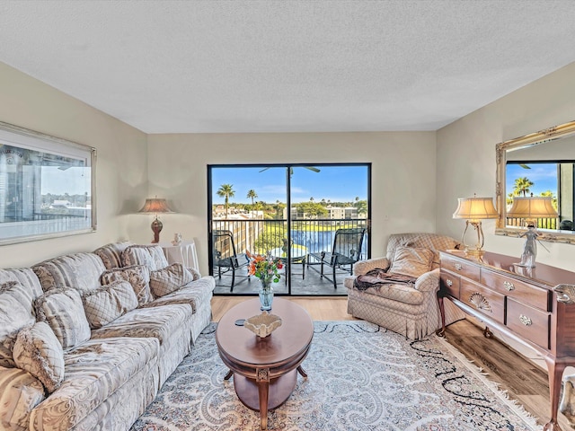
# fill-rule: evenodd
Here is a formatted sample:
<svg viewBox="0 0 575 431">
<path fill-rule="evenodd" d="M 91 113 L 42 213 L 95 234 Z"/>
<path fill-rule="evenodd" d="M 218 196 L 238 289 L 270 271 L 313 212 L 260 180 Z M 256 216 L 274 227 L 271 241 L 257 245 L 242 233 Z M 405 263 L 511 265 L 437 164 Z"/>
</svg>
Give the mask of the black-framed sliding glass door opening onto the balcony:
<svg viewBox="0 0 575 431">
<path fill-rule="evenodd" d="M 346 295 L 369 256 L 370 164 L 208 166 L 210 268 L 218 295 L 254 295 L 250 255 L 281 259 L 278 295 Z"/>
</svg>

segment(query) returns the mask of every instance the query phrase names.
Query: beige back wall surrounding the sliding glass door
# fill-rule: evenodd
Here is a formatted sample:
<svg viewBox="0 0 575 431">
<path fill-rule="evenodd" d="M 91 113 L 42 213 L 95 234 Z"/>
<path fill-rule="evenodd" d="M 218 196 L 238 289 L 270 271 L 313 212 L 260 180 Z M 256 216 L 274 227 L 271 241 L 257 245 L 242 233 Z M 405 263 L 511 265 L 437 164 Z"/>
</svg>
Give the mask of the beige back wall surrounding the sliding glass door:
<svg viewBox="0 0 575 431">
<path fill-rule="evenodd" d="M 435 154 L 434 132 L 151 135 L 149 191 L 179 213 L 163 217 L 163 241 L 193 238 L 208 274 L 208 164 L 371 162 L 372 254 L 381 256 L 390 233 L 435 231 Z"/>
</svg>

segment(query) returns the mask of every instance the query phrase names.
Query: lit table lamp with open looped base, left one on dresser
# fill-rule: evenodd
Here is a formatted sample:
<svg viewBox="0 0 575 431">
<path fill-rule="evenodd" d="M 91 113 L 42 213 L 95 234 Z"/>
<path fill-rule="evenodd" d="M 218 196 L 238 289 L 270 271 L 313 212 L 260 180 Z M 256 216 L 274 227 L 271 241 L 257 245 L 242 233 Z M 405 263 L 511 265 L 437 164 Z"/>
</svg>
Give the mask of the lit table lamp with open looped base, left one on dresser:
<svg viewBox="0 0 575 431">
<path fill-rule="evenodd" d="M 457 201 L 457 209 L 456 212 L 453 213 L 453 218 L 465 219 L 465 230 L 463 235 L 461 235 L 461 242 L 464 244 L 465 253 L 482 256 L 484 252 L 482 250 L 484 242 L 482 220 L 499 217 L 497 210 L 493 206 L 493 199 L 477 198 L 473 195 L 473 198 L 458 198 Z M 471 224 L 477 232 L 477 243 L 474 246 L 465 245 L 465 233 L 467 232 L 469 224 Z"/>
</svg>

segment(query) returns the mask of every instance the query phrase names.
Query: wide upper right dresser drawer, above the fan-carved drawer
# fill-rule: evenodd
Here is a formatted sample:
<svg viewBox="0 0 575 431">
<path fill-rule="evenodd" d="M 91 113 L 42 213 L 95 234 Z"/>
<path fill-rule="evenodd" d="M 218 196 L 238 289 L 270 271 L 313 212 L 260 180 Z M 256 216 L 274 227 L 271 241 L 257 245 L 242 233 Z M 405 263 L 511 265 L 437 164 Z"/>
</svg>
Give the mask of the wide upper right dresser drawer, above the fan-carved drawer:
<svg viewBox="0 0 575 431">
<path fill-rule="evenodd" d="M 550 312 L 550 292 L 543 287 L 529 285 L 516 278 L 506 277 L 503 274 L 497 274 L 489 269 L 481 270 L 482 285 L 507 295 L 509 298 L 516 299 L 521 303 L 526 303 L 533 307 L 539 308 L 544 312 Z"/>
</svg>

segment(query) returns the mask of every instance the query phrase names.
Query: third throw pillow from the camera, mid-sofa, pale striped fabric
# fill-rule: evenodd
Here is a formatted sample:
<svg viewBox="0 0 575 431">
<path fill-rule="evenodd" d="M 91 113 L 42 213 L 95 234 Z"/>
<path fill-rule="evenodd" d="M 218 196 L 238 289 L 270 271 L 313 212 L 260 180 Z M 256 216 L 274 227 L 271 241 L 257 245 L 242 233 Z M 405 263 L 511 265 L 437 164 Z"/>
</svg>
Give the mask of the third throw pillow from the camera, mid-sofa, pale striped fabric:
<svg viewBox="0 0 575 431">
<path fill-rule="evenodd" d="M 132 286 L 124 280 L 114 281 L 84 294 L 82 298 L 90 328 L 97 330 L 137 308 Z"/>
</svg>

